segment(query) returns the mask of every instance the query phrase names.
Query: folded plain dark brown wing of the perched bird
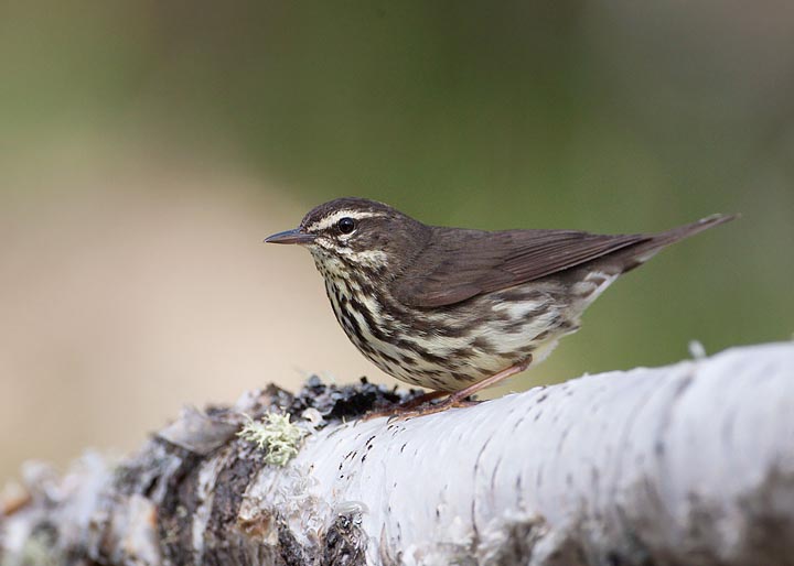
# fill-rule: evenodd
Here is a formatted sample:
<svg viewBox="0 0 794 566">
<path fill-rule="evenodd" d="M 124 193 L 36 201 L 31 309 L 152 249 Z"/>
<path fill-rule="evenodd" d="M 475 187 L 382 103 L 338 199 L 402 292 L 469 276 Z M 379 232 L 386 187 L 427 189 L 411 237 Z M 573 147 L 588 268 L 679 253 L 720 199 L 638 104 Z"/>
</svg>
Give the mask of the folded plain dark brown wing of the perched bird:
<svg viewBox="0 0 794 566">
<path fill-rule="evenodd" d="M 644 235 L 599 236 L 573 230 L 484 232 L 436 228 L 416 261 L 394 281 L 393 293 L 410 306 L 451 305 L 648 239 Z"/>
</svg>

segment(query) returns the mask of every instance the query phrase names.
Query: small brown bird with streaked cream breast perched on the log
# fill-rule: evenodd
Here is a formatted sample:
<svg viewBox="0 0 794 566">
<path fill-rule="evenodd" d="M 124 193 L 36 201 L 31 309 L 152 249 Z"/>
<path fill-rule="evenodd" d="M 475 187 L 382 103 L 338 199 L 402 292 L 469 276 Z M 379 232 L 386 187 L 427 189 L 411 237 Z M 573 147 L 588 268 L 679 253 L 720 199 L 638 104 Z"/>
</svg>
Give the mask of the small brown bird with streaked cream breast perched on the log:
<svg viewBox="0 0 794 566">
<path fill-rule="evenodd" d="M 350 340 L 387 374 L 430 390 L 416 413 L 428 414 L 464 406 L 541 362 L 620 275 L 733 218 L 712 215 L 658 233 L 485 231 L 430 226 L 344 197 L 265 242 L 311 252 Z"/>
</svg>

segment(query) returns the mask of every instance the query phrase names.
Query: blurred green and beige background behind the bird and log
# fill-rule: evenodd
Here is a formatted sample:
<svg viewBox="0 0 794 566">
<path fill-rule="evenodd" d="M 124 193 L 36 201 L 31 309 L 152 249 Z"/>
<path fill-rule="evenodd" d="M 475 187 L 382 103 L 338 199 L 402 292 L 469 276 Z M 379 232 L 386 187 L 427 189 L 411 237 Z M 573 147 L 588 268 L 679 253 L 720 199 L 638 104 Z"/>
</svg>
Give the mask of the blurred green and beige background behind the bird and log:
<svg viewBox="0 0 794 566">
<path fill-rule="evenodd" d="M 791 339 L 792 37 L 766 0 L 0 1 L 0 482 L 270 381 L 390 382 L 309 254 L 261 244 L 336 196 L 478 228 L 743 215 L 509 388 Z"/>
</svg>

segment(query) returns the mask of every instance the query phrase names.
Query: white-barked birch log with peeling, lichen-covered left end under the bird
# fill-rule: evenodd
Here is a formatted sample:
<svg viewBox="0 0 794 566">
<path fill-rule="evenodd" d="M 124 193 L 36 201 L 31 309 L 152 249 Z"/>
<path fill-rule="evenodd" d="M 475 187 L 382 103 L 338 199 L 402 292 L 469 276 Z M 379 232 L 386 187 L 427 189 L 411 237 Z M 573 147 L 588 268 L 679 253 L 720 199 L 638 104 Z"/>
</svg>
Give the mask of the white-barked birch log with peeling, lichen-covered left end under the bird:
<svg viewBox="0 0 794 566">
<path fill-rule="evenodd" d="M 124 461 L 29 466 L 2 566 L 794 565 L 794 344 L 404 422 L 343 423 L 312 387 L 187 411 Z M 309 404 L 286 467 L 235 435 Z"/>
</svg>

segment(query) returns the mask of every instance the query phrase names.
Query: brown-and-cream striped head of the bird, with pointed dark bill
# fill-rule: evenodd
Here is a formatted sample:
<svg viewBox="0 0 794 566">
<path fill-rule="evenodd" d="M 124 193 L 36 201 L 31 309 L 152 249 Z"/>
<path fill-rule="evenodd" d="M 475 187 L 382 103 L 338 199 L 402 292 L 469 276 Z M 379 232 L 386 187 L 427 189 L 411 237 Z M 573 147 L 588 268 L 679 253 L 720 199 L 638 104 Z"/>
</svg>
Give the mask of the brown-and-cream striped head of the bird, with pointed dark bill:
<svg viewBox="0 0 794 566">
<path fill-rule="evenodd" d="M 305 246 L 322 272 L 368 269 L 396 274 L 425 244 L 429 228 L 383 203 L 337 198 L 309 211 L 268 243 Z"/>
</svg>

